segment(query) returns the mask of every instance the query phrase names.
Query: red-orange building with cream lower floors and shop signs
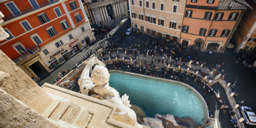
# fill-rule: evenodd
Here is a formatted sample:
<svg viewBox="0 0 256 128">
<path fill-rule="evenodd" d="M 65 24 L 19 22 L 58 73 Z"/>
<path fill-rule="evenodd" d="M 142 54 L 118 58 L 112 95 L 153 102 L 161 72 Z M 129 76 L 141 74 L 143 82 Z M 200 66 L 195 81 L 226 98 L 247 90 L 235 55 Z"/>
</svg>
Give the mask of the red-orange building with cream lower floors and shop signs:
<svg viewBox="0 0 256 128">
<path fill-rule="evenodd" d="M 80 0 L 4 0 L 0 49 L 35 81 L 94 40 Z"/>
</svg>

